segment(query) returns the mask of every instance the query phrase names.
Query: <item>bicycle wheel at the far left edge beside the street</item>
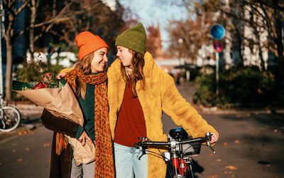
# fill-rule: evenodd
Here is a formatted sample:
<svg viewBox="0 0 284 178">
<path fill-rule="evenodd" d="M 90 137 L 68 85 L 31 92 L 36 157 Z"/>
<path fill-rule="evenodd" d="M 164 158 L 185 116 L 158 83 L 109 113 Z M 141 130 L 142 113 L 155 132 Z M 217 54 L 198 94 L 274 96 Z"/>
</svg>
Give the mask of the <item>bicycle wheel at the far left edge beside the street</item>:
<svg viewBox="0 0 284 178">
<path fill-rule="evenodd" d="M 21 120 L 20 112 L 9 105 L 2 107 L 2 112 L 3 115 L 1 115 L 2 117 L 0 118 L 0 131 L 10 132 L 15 130 Z"/>
</svg>

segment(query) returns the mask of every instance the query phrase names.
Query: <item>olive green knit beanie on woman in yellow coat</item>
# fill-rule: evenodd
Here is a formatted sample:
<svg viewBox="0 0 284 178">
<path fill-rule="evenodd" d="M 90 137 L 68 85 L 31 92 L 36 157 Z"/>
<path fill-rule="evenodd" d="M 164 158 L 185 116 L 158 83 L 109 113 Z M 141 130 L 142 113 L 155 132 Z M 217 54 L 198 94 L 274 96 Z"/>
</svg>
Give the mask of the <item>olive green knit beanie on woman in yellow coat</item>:
<svg viewBox="0 0 284 178">
<path fill-rule="evenodd" d="M 144 55 L 146 51 L 146 31 L 142 23 L 127 29 L 116 38 L 116 46 L 123 46 Z"/>
</svg>

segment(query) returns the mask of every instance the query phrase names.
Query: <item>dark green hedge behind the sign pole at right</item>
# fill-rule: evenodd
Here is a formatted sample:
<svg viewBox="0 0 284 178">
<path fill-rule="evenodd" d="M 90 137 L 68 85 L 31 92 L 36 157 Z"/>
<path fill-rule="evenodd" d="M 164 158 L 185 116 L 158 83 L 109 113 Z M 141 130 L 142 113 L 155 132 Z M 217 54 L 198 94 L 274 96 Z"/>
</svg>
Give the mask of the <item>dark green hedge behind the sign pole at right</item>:
<svg viewBox="0 0 284 178">
<path fill-rule="evenodd" d="M 195 80 L 197 104 L 251 105 L 283 102 L 283 81 L 275 80 L 273 73 L 261 72 L 256 67 L 230 68 L 219 72 L 219 101 L 216 96 L 215 73 L 202 74 Z M 281 87 L 281 88 L 280 88 Z"/>
</svg>

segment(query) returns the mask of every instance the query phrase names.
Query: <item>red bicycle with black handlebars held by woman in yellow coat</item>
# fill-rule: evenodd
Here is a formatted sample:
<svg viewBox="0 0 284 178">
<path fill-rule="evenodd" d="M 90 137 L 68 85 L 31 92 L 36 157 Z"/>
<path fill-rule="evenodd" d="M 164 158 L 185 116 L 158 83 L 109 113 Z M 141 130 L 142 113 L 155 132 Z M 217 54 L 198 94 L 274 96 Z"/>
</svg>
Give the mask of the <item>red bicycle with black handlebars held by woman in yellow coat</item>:
<svg viewBox="0 0 284 178">
<path fill-rule="evenodd" d="M 168 147 L 169 152 L 160 152 L 160 156 L 163 157 L 165 164 L 173 167 L 171 172 L 173 178 L 185 178 L 190 175 L 194 178 L 192 157 L 200 154 L 202 143 L 206 142 L 206 145 L 215 153 L 210 145 L 211 134 L 209 132 L 206 132 L 204 137 L 192 138 L 182 127 L 170 130 L 168 142 L 155 142 L 146 137 L 139 137 L 139 139 L 141 141 L 135 146 L 141 152 L 145 152 L 146 147 Z"/>
</svg>

